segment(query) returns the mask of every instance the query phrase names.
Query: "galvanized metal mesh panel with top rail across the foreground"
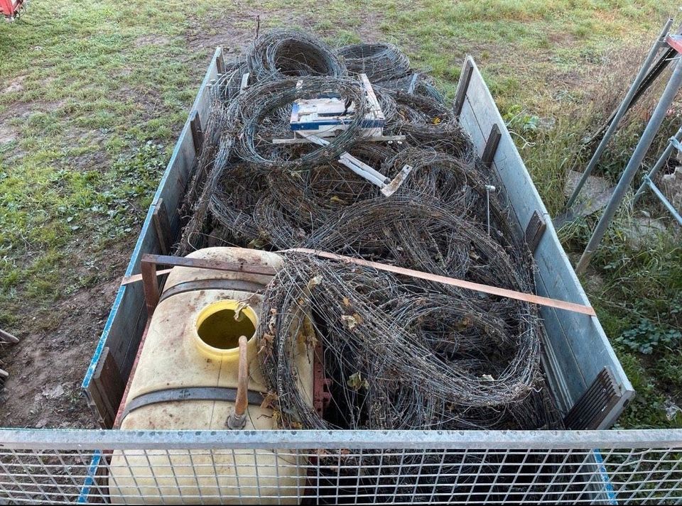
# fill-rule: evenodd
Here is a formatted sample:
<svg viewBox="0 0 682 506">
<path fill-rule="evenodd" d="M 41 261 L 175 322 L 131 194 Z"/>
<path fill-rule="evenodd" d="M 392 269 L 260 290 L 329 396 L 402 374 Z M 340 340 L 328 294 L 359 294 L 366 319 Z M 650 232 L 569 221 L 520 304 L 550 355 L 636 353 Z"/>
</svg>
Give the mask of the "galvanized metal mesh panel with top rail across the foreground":
<svg viewBox="0 0 682 506">
<path fill-rule="evenodd" d="M 682 430 L 0 431 L 0 503 L 682 502 Z"/>
</svg>

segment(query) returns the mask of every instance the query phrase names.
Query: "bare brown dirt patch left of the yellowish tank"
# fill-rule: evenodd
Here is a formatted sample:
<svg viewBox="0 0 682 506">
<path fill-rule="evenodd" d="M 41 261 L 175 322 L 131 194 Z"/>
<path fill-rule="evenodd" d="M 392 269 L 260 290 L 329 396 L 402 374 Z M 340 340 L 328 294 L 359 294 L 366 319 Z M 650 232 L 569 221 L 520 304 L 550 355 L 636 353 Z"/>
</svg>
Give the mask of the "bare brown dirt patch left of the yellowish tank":
<svg viewBox="0 0 682 506">
<path fill-rule="evenodd" d="M 40 331 L 51 324 L 33 317 L 32 330 L 6 346 L 9 378 L 0 392 L 4 427 L 96 427 L 80 384 L 118 287 L 112 280 L 82 290 L 53 308 L 59 320 L 54 331 Z"/>
</svg>

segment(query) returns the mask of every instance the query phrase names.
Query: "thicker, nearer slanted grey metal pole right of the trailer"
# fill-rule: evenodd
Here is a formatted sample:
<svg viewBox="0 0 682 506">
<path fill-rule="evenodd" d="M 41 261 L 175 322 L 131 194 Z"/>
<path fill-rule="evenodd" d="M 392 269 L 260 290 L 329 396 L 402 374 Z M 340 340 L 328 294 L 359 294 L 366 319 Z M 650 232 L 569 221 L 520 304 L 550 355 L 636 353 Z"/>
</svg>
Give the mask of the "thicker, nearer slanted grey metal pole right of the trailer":
<svg viewBox="0 0 682 506">
<path fill-rule="evenodd" d="M 661 128 L 661 123 L 663 123 L 663 120 L 665 119 L 666 112 L 672 104 L 673 99 L 675 99 L 675 95 L 677 94 L 681 85 L 682 59 L 678 55 L 675 70 L 673 70 L 673 75 L 671 75 L 668 84 L 666 84 L 666 89 L 664 89 L 661 99 L 656 105 L 656 109 L 654 109 L 654 114 L 651 114 L 651 119 L 644 129 L 644 133 L 642 133 L 642 138 L 639 139 L 637 148 L 634 149 L 632 158 L 630 158 L 630 161 L 627 163 L 627 167 L 625 167 L 623 175 L 620 177 L 613 196 L 604 210 L 604 214 L 600 218 L 597 228 L 592 233 L 592 237 L 590 237 L 588 246 L 585 247 L 585 251 L 583 251 L 583 255 L 580 257 L 578 265 L 575 266 L 576 273 L 584 273 L 585 269 L 590 264 L 592 256 L 595 254 L 595 251 L 597 250 L 599 243 L 602 241 L 602 238 L 604 238 L 613 216 L 615 216 L 616 211 L 620 206 L 623 197 L 625 196 L 625 193 L 632 183 L 634 175 L 637 173 L 639 166 L 642 165 L 644 156 L 646 155 L 646 152 L 649 151 L 651 143 L 654 141 L 654 137 L 659 131 L 659 128 Z"/>
</svg>

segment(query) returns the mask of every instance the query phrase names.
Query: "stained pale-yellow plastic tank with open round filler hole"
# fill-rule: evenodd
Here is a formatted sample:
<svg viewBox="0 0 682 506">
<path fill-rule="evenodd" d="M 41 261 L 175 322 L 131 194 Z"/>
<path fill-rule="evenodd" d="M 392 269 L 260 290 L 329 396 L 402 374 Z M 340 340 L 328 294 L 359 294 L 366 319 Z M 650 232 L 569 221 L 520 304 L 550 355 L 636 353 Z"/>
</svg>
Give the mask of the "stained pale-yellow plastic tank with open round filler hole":
<svg viewBox="0 0 682 506">
<path fill-rule="evenodd" d="M 281 266 L 275 253 L 206 248 L 188 255 Z M 151 319 L 129 393 L 123 430 L 225 430 L 234 411 L 239 336 L 247 336 L 249 406 L 244 430 L 278 429 L 254 332 L 267 275 L 175 267 Z M 298 339 L 299 388 L 313 404 L 313 344 Z M 216 400 L 220 397 L 220 400 Z M 283 450 L 115 451 L 109 473 L 114 503 L 297 504 L 305 490 L 304 458 Z"/>
</svg>

